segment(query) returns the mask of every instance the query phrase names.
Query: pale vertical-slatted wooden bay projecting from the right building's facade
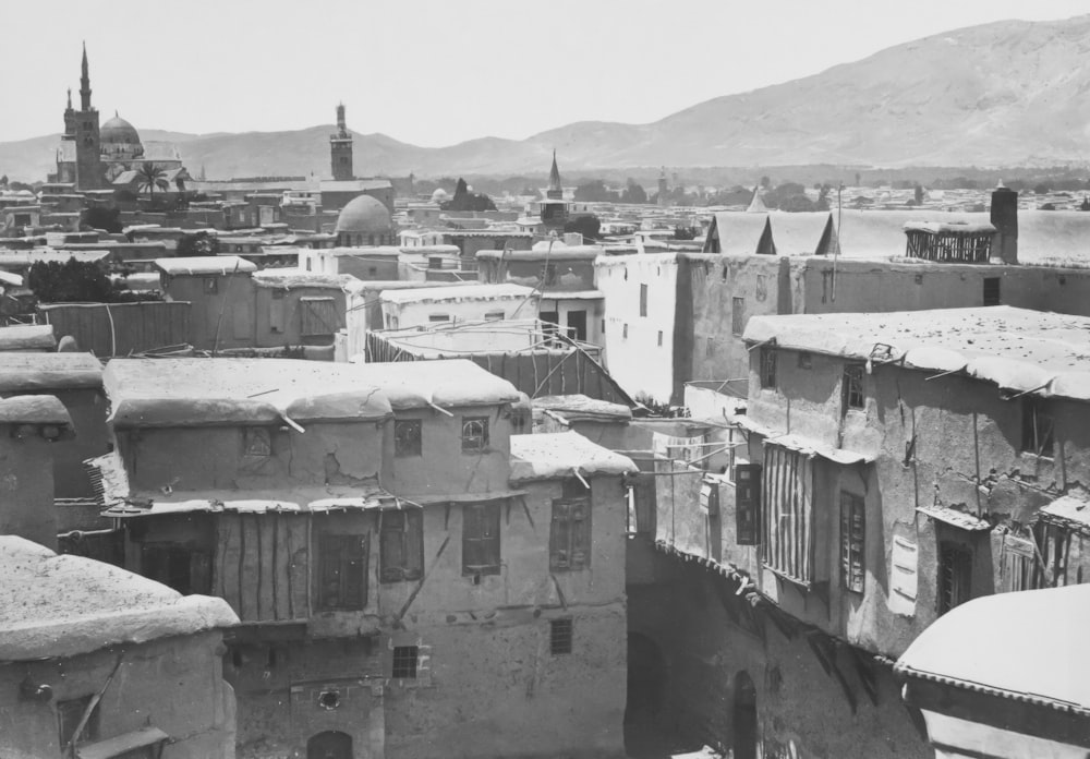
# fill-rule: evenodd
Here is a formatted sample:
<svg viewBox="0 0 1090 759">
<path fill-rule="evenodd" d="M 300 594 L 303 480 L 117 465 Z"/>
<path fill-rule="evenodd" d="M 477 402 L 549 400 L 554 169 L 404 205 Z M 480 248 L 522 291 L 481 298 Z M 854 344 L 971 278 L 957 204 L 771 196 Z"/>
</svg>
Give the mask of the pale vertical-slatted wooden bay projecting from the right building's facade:
<svg viewBox="0 0 1090 759">
<path fill-rule="evenodd" d="M 813 581 L 813 459 L 765 442 L 761 487 L 764 564 L 806 587 Z"/>
</svg>

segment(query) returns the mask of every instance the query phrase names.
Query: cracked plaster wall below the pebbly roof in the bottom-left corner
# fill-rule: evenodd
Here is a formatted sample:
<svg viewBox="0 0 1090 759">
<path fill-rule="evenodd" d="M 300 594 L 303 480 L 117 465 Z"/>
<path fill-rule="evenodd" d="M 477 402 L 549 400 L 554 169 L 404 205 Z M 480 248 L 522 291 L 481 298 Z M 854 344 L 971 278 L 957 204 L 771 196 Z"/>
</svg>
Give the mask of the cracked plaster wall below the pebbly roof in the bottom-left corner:
<svg viewBox="0 0 1090 759">
<path fill-rule="evenodd" d="M 71 659 L 2 668 L 0 752 L 19 759 L 61 756 L 57 703 L 99 691 L 100 739 L 147 726 L 171 737 L 164 757 L 232 759 L 234 692 L 222 678 L 222 634 L 208 631 L 102 649 Z M 20 698 L 20 682 L 49 685 L 49 701 Z"/>
</svg>

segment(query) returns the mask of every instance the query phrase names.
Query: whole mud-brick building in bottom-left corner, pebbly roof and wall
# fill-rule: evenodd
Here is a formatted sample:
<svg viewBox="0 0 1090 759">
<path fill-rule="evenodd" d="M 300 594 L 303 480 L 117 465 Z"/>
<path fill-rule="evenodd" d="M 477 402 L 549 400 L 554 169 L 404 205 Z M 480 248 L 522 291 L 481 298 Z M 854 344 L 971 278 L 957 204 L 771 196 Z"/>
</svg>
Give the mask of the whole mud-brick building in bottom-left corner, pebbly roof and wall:
<svg viewBox="0 0 1090 759">
<path fill-rule="evenodd" d="M 0 755 L 233 759 L 222 600 L 15 535 L 0 573 Z"/>
</svg>

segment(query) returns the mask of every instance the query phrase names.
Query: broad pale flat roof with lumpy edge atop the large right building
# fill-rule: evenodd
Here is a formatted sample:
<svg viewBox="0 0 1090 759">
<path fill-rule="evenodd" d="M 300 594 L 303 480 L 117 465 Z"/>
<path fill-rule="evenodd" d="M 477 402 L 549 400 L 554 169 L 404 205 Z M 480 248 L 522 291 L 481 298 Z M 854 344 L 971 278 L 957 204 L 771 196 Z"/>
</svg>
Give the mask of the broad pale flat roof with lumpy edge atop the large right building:
<svg viewBox="0 0 1090 759">
<path fill-rule="evenodd" d="M 964 372 L 1019 393 L 1090 400 L 1087 316 L 1006 305 L 753 316 L 743 337 L 859 361 Z M 872 356 L 876 347 L 882 352 Z"/>
</svg>

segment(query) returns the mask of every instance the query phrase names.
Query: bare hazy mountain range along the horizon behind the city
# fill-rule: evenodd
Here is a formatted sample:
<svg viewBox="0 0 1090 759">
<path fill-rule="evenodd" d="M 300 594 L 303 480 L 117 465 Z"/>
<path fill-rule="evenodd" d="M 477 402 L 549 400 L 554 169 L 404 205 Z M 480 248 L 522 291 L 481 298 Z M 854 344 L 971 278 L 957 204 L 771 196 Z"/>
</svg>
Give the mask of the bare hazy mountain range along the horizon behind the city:
<svg viewBox="0 0 1090 759">
<path fill-rule="evenodd" d="M 363 176 L 540 174 L 554 147 L 568 171 L 659 165 L 1082 164 L 1090 161 L 1088 53 L 1090 15 L 996 22 L 717 97 L 650 124 L 577 122 L 523 141 L 482 137 L 441 148 L 355 133 L 355 167 Z M 768 55 L 790 53 L 777 50 L 773 38 Z M 351 96 L 347 103 L 351 123 Z M 362 110 L 354 109 L 360 119 Z M 329 170 L 331 125 L 210 135 L 136 128 L 144 140 L 180 143 L 194 176 L 202 167 L 209 179 L 325 176 Z M 57 140 L 0 143 L 0 173 L 43 179 L 53 168 Z"/>
</svg>

